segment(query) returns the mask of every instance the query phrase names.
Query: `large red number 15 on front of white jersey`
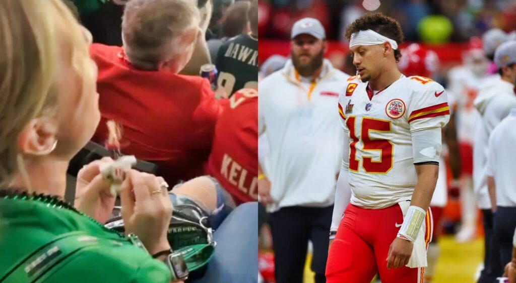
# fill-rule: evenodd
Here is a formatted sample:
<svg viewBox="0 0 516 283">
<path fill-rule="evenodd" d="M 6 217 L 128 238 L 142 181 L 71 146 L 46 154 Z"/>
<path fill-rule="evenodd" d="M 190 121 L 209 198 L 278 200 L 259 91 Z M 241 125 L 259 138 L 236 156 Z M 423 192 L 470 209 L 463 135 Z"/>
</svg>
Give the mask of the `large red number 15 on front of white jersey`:
<svg viewBox="0 0 516 283">
<path fill-rule="evenodd" d="M 359 141 L 355 133 L 356 117 L 349 116 L 346 124 L 349 129 L 349 136 L 353 141 L 349 144 L 349 170 L 358 172 L 360 160 L 357 159 L 356 145 Z M 380 161 L 373 161 L 371 157 L 362 158 L 362 168 L 366 173 L 385 174 L 393 166 L 393 144 L 391 141 L 381 138 L 370 138 L 369 132 L 391 132 L 391 121 L 363 117 L 361 121 L 363 151 L 380 151 Z"/>
</svg>

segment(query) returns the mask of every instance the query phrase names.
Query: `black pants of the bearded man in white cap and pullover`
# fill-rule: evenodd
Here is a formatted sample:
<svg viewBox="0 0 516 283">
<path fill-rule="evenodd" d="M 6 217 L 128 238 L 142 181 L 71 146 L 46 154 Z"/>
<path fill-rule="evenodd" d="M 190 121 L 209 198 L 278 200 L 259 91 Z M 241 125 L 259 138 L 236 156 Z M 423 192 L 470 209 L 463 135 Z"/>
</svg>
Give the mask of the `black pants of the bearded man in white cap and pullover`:
<svg viewBox="0 0 516 283">
<path fill-rule="evenodd" d="M 283 207 L 270 215 L 277 283 L 301 283 L 308 240 L 314 247 L 312 270 L 315 282 L 325 283 L 328 236 L 333 205 Z"/>
</svg>

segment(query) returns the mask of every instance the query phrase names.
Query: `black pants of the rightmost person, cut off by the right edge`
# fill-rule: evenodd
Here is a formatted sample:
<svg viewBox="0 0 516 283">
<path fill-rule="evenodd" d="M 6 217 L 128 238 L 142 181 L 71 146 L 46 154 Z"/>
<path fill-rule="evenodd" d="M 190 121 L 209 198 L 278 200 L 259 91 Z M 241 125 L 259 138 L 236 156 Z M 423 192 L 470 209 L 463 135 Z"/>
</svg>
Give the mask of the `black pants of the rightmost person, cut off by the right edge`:
<svg viewBox="0 0 516 283">
<path fill-rule="evenodd" d="M 512 237 L 516 228 L 516 207 L 496 208 L 494 216 L 494 235 L 498 239 L 500 247 L 500 264 L 505 264 L 512 259 Z"/>
</svg>

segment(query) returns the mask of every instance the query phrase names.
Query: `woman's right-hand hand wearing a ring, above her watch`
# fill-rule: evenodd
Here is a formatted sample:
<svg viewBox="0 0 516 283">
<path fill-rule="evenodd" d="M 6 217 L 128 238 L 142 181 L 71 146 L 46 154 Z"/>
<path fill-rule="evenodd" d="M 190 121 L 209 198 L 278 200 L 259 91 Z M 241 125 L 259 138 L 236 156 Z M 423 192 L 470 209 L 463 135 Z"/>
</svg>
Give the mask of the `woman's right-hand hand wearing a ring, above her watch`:
<svg viewBox="0 0 516 283">
<path fill-rule="evenodd" d="M 125 233 L 134 233 L 150 254 L 169 250 L 167 239 L 172 203 L 163 178 L 136 170 L 127 172 L 120 201 Z"/>
</svg>

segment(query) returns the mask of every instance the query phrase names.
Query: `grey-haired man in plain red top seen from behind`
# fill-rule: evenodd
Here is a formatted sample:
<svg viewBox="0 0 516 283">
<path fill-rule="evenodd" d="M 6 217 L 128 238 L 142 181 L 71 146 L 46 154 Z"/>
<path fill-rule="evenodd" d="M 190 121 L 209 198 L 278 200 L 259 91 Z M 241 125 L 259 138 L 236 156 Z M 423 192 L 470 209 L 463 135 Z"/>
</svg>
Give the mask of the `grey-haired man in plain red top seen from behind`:
<svg viewBox="0 0 516 283">
<path fill-rule="evenodd" d="M 105 121 L 117 121 L 121 151 L 157 164 L 170 185 L 203 174 L 222 111 L 208 80 L 178 75 L 202 37 L 200 21 L 190 0 L 132 0 L 123 46 L 90 47 L 102 115 L 93 140 L 104 144 Z"/>
</svg>

